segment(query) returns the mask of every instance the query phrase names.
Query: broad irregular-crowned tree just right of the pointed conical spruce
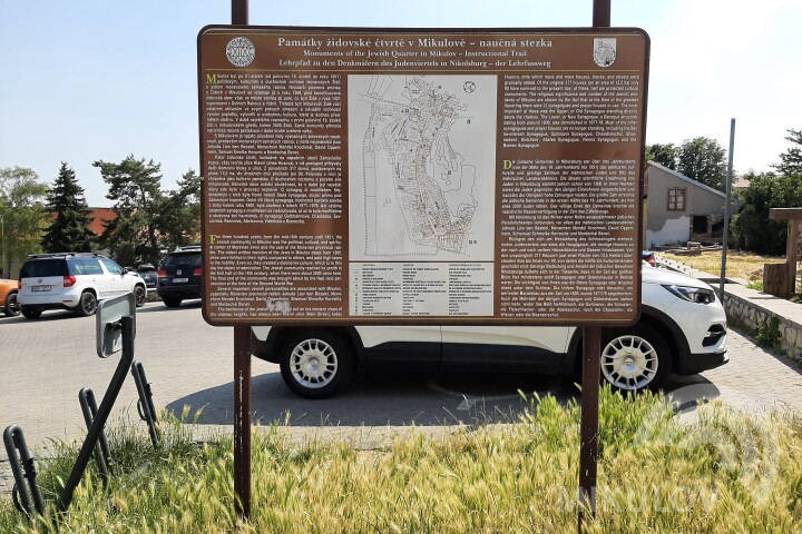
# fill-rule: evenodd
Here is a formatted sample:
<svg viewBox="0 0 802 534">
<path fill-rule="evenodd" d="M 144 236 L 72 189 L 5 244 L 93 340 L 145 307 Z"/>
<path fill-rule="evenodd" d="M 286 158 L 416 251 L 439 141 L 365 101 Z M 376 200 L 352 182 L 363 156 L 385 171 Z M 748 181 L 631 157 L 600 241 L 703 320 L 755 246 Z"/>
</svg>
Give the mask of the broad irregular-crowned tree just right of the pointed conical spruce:
<svg viewBox="0 0 802 534">
<path fill-rule="evenodd" d="M 106 225 L 102 240 L 121 265 L 156 264 L 159 259 L 157 215 L 163 202 L 162 166 L 133 155 L 119 164 L 95 161 L 109 185 L 117 218 Z"/>
</svg>

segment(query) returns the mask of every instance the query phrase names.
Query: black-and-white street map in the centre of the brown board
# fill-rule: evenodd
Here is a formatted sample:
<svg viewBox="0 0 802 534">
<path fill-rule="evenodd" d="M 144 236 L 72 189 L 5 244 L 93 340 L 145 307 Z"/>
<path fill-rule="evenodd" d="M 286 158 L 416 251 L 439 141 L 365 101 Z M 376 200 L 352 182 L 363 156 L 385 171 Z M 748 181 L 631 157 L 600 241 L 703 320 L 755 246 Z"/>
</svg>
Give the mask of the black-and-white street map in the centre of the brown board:
<svg viewBox="0 0 802 534">
<path fill-rule="evenodd" d="M 492 260 L 497 83 L 348 77 L 351 260 Z"/>
</svg>

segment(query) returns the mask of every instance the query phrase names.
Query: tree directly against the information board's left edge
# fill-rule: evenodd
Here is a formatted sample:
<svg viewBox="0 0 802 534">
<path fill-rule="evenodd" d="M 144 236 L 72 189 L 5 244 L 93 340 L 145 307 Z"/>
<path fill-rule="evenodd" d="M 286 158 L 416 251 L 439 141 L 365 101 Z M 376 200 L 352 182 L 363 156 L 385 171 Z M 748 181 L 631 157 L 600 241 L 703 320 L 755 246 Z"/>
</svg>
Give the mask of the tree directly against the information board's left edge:
<svg viewBox="0 0 802 534">
<path fill-rule="evenodd" d="M 160 245 L 175 247 L 198 243 L 200 236 L 200 177 L 189 169 L 178 180 L 178 189 L 164 195 L 158 227 Z"/>
</svg>

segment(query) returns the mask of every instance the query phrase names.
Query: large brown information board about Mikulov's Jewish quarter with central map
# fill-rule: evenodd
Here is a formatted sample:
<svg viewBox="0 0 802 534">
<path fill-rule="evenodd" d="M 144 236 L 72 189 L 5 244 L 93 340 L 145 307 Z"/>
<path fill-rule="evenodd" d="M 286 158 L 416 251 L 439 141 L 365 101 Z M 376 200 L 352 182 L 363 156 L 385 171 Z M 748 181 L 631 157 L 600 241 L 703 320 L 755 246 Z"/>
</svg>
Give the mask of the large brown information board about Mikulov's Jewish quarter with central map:
<svg viewBox="0 0 802 534">
<path fill-rule="evenodd" d="M 638 29 L 207 27 L 213 325 L 627 325 Z"/>
</svg>

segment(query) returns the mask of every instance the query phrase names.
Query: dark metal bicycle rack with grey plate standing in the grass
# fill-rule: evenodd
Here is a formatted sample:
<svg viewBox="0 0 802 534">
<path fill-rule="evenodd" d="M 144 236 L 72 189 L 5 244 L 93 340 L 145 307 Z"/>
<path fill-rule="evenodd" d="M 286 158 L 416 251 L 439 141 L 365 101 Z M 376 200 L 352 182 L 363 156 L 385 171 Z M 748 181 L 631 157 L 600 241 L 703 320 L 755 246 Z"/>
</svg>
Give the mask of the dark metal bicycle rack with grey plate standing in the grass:
<svg viewBox="0 0 802 534">
<path fill-rule="evenodd" d="M 85 387 L 78 393 L 78 399 L 84 414 L 88 433 L 84 439 L 78 458 L 61 492 L 58 502 L 58 511 L 65 512 L 72 502 L 76 487 L 86 471 L 92 454 L 100 472 L 104 483 L 108 482 L 109 474 L 114 471 L 114 462 L 109 452 L 108 441 L 104 428 L 111 413 L 123 383 L 125 383 L 128 369 L 130 369 L 136 382 L 139 399 L 137 409 L 139 416 L 148 425 L 150 439 L 154 447 L 160 443 L 160 433 L 157 426 L 156 408 L 153 403 L 150 384 L 145 376 L 145 368 L 140 362 L 134 362 L 134 338 L 136 336 L 136 306 L 134 295 L 127 294 L 116 298 L 102 300 L 97 308 L 97 354 L 100 358 L 107 358 L 113 354 L 123 350 L 111 382 L 104 395 L 100 407 L 95 399 L 91 389 Z M 32 516 L 45 512 L 45 500 L 37 485 L 37 472 L 28 445 L 26 444 L 22 429 L 11 425 L 3 432 L 3 443 L 9 457 L 9 464 L 14 477 L 12 497 L 17 508 Z"/>
</svg>

